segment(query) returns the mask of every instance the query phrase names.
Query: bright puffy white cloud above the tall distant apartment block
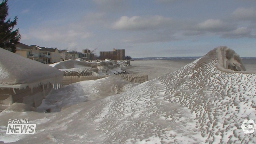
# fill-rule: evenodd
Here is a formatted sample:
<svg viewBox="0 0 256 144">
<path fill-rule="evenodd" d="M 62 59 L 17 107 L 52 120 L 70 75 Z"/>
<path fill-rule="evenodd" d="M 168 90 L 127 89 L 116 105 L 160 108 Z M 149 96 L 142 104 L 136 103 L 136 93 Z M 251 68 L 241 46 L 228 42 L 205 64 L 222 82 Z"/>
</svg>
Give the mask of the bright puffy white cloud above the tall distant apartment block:
<svg viewBox="0 0 256 144">
<path fill-rule="evenodd" d="M 163 28 L 171 23 L 171 19 L 163 16 L 122 16 L 112 24 L 117 30 L 149 30 Z"/>
</svg>

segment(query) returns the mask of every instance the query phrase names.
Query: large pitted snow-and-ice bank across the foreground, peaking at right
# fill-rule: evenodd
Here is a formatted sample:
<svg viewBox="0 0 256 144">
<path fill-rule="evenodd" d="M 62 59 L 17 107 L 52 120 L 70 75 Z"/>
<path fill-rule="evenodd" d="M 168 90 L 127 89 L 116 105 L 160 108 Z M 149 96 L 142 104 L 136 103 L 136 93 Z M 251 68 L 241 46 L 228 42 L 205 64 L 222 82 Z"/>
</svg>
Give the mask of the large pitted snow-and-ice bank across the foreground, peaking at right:
<svg viewBox="0 0 256 144">
<path fill-rule="evenodd" d="M 241 129 L 245 119 L 256 120 L 256 74 L 242 70 L 237 54 L 217 47 L 173 73 L 61 112 L 2 112 L 0 141 L 256 143 L 255 132 Z M 8 119 L 17 118 L 37 123 L 35 135 L 6 135 Z"/>
</svg>

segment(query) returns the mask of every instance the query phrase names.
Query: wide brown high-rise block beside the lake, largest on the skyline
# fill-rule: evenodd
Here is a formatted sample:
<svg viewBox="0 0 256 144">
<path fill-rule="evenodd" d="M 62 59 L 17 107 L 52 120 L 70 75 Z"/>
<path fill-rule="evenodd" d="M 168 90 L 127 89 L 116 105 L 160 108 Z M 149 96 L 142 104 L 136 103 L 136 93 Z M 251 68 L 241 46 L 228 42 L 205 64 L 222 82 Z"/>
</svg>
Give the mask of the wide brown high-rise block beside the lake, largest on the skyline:
<svg viewBox="0 0 256 144">
<path fill-rule="evenodd" d="M 110 58 L 114 60 L 124 60 L 125 59 L 125 49 L 115 49 L 109 52 L 100 52 L 100 58 Z"/>
</svg>

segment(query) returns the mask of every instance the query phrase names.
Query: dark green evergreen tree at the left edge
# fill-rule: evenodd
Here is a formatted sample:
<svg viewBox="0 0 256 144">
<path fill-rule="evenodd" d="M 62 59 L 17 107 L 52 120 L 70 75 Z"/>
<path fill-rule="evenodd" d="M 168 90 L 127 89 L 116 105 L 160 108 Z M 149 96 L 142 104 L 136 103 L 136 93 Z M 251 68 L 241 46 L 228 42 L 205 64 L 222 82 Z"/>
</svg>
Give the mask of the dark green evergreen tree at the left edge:
<svg viewBox="0 0 256 144">
<path fill-rule="evenodd" d="M 6 20 L 9 9 L 7 2 L 8 0 L 4 0 L 0 4 L 0 47 L 15 53 L 15 44 L 19 42 L 21 36 L 19 29 L 13 30 L 17 24 L 18 17 L 15 16 L 13 21 L 10 18 Z"/>
</svg>

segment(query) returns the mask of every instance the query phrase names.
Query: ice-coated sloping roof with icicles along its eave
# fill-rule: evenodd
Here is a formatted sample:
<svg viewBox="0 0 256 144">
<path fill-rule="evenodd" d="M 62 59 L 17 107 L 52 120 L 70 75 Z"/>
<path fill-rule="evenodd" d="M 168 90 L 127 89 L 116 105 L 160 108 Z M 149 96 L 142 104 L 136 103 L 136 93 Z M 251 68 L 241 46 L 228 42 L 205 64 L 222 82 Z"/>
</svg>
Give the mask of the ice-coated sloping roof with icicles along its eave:
<svg viewBox="0 0 256 144">
<path fill-rule="evenodd" d="M 56 68 L 0 48 L 0 88 L 33 88 L 60 83 L 62 78 Z"/>
</svg>

